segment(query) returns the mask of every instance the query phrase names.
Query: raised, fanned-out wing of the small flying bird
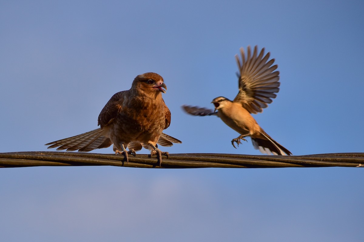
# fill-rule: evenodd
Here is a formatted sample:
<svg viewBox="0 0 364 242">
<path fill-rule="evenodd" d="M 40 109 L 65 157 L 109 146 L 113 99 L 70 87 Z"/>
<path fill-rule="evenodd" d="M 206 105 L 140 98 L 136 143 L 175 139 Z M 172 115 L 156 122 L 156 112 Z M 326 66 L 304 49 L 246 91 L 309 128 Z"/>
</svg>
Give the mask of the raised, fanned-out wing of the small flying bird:
<svg viewBox="0 0 364 242">
<path fill-rule="evenodd" d="M 279 91 L 279 71 L 278 65 L 273 65 L 274 59 L 269 60 L 270 53 L 264 56 L 264 48 L 258 54 L 258 47 L 254 47 L 253 54 L 250 46 L 247 54 L 240 48 L 241 60 L 235 56 L 239 73 L 239 93 L 235 97 L 235 103 L 240 103 L 250 113 L 262 112 L 262 108 L 268 107 L 272 98 L 276 98 Z M 268 61 L 268 62 L 267 62 Z"/>
</svg>

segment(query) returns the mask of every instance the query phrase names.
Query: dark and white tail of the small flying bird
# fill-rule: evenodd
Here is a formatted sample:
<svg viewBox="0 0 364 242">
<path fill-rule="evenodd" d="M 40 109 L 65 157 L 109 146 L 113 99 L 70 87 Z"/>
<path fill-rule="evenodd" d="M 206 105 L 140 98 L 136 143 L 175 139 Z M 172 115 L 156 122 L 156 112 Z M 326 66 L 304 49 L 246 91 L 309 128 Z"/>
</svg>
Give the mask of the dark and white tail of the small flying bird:
<svg viewBox="0 0 364 242">
<path fill-rule="evenodd" d="M 267 155 L 292 155 L 292 153 L 278 144 L 277 141 L 272 139 L 266 132 L 262 131 L 261 134 L 266 139 L 252 138 L 252 143 L 255 149 Z"/>
</svg>

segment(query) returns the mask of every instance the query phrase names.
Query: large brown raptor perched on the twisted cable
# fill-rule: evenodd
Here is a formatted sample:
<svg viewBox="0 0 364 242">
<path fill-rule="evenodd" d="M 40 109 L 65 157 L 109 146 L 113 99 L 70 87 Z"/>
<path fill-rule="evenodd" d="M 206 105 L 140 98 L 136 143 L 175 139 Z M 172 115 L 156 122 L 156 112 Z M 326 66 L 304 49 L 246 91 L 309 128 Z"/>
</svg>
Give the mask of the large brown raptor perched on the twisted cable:
<svg viewBox="0 0 364 242">
<path fill-rule="evenodd" d="M 51 145 L 48 149 L 88 152 L 114 144 L 115 154 L 122 153 L 126 161 L 128 153 L 135 156 L 135 151 L 144 147 L 151 150 L 151 155 L 157 154 L 161 164 L 162 153 L 168 156 L 168 152 L 161 152 L 157 143 L 162 146 L 182 143 L 162 133 L 171 122 L 171 112 L 162 98 L 166 90 L 163 78 L 157 73 L 138 75 L 129 90 L 115 93 L 106 103 L 98 118 L 100 128 L 46 145 Z"/>
</svg>

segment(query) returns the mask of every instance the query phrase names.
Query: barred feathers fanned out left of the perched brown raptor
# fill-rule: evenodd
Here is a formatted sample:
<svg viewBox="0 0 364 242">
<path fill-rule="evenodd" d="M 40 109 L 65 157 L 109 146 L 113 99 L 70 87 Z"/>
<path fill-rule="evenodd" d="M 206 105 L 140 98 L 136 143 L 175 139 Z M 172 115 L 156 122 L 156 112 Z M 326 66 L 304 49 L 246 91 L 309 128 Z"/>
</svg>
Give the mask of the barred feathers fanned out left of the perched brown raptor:
<svg viewBox="0 0 364 242">
<path fill-rule="evenodd" d="M 111 141 L 107 136 L 103 135 L 103 130 L 88 131 L 86 133 L 72 136 L 70 138 L 53 141 L 46 145 L 51 145 L 48 149 L 57 148 L 58 151 L 66 149 L 66 151 L 88 152 L 93 149 L 106 148 L 111 145 Z"/>
</svg>

